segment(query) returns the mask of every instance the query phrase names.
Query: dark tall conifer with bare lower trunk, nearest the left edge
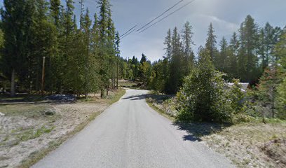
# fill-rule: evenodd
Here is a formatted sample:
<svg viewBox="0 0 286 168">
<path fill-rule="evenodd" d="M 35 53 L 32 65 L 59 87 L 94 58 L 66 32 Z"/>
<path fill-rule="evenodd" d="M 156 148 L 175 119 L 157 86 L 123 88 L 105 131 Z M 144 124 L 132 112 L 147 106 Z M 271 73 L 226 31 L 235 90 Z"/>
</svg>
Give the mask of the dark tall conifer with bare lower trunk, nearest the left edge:
<svg viewBox="0 0 286 168">
<path fill-rule="evenodd" d="M 5 0 L 1 9 L 4 31 L 4 73 L 11 76 L 11 96 L 15 96 L 15 78 L 27 79 L 27 48 L 31 38 L 34 5 L 32 1 Z"/>
</svg>

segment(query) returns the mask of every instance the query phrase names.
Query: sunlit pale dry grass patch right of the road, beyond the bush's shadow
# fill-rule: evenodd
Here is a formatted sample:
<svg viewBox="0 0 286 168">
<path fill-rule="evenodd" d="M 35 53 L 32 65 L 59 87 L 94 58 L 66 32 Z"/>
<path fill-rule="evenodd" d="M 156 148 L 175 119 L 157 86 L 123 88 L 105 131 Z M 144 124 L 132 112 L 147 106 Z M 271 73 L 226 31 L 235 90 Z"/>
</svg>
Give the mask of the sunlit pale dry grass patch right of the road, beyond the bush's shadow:
<svg viewBox="0 0 286 168">
<path fill-rule="evenodd" d="M 286 167 L 286 123 L 243 123 L 201 139 L 238 167 Z"/>
</svg>

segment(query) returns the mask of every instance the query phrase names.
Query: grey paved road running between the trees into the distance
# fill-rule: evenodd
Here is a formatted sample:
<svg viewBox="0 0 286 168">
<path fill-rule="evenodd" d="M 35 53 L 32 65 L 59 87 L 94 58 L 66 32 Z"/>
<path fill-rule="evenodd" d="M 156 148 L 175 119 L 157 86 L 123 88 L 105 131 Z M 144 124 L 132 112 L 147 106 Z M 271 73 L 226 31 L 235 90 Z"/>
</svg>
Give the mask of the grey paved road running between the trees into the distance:
<svg viewBox="0 0 286 168">
<path fill-rule="evenodd" d="M 146 90 L 127 90 L 37 167 L 233 167 L 147 106 Z"/>
</svg>

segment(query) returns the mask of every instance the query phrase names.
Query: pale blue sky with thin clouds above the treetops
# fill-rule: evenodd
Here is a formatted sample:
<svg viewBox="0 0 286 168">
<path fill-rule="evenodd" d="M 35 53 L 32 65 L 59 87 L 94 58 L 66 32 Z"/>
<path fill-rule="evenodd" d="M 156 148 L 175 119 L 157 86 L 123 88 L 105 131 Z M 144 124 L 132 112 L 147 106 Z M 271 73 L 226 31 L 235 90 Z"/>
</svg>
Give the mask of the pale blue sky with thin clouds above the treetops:
<svg viewBox="0 0 286 168">
<path fill-rule="evenodd" d="M 76 14 L 79 15 L 79 1 L 74 1 Z M 178 1 L 111 0 L 112 18 L 116 29 L 120 34 L 123 34 L 134 25 L 139 27 L 146 24 Z M 184 0 L 182 4 L 188 1 L 190 0 Z M 98 11 L 95 0 L 85 0 L 85 6 L 88 7 L 91 15 Z M 144 52 L 151 61 L 160 59 L 165 53 L 163 40 L 168 29 L 173 29 L 175 26 L 182 29 L 182 25 L 186 21 L 191 22 L 193 26 L 193 41 L 196 43 L 193 50 L 197 52 L 200 45 L 205 45 L 207 27 L 210 22 L 214 26 L 217 41 L 219 42 L 222 36 L 225 36 L 229 41 L 233 31 L 238 30 L 240 23 L 248 14 L 252 15 L 260 27 L 264 26 L 266 22 L 270 22 L 273 26 L 285 27 L 286 1 L 196 0 L 142 34 L 134 33 L 123 38 L 121 41 L 121 56 L 132 57 L 135 55 L 141 57 L 142 52 Z"/>
</svg>

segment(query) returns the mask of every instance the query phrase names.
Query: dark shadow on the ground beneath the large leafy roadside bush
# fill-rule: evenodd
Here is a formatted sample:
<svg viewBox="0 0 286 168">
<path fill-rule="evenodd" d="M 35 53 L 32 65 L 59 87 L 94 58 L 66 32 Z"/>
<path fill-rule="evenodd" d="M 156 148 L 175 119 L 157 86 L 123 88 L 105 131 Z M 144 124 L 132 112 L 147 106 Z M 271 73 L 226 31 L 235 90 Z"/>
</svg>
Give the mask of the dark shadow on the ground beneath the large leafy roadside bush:
<svg viewBox="0 0 286 168">
<path fill-rule="evenodd" d="M 184 141 L 202 141 L 202 137 L 209 136 L 221 132 L 230 124 L 217 123 L 186 123 L 176 121 L 173 125 L 177 126 L 178 130 L 184 130 L 188 134 L 184 135 Z"/>
</svg>

